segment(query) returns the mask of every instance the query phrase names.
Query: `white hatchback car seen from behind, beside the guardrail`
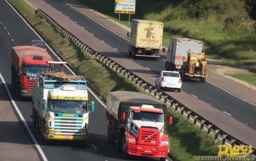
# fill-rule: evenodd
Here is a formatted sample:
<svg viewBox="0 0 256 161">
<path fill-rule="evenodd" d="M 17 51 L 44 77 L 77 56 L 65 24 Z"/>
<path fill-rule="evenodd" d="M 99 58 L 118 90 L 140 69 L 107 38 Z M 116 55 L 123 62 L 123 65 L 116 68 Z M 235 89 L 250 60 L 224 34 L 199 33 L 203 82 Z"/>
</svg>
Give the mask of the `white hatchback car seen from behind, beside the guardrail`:
<svg viewBox="0 0 256 161">
<path fill-rule="evenodd" d="M 155 81 L 158 88 L 170 88 L 181 92 L 181 75 L 176 71 L 161 71 Z"/>
</svg>

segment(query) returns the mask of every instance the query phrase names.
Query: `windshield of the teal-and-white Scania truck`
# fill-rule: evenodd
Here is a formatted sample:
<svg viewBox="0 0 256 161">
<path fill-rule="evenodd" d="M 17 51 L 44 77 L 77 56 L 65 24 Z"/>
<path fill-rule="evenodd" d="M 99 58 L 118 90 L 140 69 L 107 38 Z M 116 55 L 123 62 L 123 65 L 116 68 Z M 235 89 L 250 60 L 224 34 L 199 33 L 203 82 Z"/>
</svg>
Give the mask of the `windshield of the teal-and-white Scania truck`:
<svg viewBox="0 0 256 161">
<path fill-rule="evenodd" d="M 58 113 L 87 113 L 87 101 L 51 100 L 50 111 Z"/>
</svg>

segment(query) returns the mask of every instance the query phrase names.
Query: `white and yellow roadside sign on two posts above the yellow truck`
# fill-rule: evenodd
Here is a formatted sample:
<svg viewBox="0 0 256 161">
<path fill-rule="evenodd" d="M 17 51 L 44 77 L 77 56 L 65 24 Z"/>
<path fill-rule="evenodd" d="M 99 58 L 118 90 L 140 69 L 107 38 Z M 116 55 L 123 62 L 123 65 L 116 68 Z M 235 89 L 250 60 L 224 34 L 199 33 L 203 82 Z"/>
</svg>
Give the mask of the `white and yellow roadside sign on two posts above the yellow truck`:
<svg viewBox="0 0 256 161">
<path fill-rule="evenodd" d="M 115 13 L 119 13 L 119 22 L 120 22 L 120 13 L 129 14 L 129 25 L 131 14 L 135 14 L 135 3 L 136 0 L 115 0 Z"/>
</svg>

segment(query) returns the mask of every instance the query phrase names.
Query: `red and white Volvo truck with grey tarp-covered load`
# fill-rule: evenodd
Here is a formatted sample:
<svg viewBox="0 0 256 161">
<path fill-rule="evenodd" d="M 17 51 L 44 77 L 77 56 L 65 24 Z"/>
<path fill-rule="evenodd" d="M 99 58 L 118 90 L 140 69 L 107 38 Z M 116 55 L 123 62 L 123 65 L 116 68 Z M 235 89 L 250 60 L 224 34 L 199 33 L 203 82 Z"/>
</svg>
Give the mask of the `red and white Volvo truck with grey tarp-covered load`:
<svg viewBox="0 0 256 161">
<path fill-rule="evenodd" d="M 147 94 L 109 92 L 108 142 L 115 144 L 117 152 L 123 152 L 125 158 L 135 155 L 165 161 L 169 152 L 169 137 L 164 135 L 165 111 L 165 104 Z"/>
</svg>

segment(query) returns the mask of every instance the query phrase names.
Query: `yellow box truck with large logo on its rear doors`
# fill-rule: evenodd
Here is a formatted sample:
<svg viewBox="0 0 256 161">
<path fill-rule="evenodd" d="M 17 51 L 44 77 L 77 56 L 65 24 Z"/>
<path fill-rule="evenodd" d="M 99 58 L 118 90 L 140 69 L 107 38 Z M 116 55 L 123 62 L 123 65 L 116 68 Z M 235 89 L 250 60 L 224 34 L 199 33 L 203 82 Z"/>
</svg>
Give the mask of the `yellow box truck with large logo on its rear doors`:
<svg viewBox="0 0 256 161">
<path fill-rule="evenodd" d="M 129 56 L 158 59 L 162 48 L 164 24 L 150 20 L 131 20 Z M 127 33 L 129 37 L 129 32 Z"/>
</svg>

